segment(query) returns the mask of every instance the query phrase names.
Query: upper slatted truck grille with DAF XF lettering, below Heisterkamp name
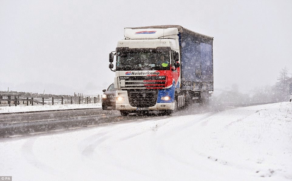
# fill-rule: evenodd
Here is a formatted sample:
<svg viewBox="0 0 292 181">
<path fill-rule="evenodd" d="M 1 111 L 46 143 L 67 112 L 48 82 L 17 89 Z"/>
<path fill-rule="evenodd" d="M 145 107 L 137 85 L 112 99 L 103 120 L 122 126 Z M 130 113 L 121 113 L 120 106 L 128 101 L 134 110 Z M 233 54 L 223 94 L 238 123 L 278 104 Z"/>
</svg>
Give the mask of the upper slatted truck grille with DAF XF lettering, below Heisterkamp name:
<svg viewBox="0 0 292 181">
<path fill-rule="evenodd" d="M 165 76 L 129 76 L 120 77 L 125 80 L 122 89 L 162 89 L 165 87 Z"/>
</svg>

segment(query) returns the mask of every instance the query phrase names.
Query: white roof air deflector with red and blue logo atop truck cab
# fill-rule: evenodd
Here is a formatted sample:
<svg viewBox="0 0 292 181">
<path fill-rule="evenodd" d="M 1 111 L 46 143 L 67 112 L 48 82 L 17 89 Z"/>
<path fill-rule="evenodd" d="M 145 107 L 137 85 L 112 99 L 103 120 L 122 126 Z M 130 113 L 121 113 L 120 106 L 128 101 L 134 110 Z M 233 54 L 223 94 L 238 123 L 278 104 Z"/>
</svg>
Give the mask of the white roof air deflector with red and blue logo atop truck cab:
<svg viewBox="0 0 292 181">
<path fill-rule="evenodd" d="M 157 39 L 169 35 L 177 35 L 177 28 L 145 28 L 145 29 L 124 29 L 125 39 Z"/>
</svg>

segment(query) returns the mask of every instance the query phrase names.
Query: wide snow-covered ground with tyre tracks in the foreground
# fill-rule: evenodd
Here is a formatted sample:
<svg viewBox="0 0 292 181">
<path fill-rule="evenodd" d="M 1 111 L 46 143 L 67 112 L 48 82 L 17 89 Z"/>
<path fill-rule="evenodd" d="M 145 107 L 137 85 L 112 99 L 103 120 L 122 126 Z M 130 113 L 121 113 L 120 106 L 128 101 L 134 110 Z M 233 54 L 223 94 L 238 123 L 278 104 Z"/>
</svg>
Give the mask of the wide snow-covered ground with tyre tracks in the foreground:
<svg viewBox="0 0 292 181">
<path fill-rule="evenodd" d="M 137 118 L 137 117 L 136 117 Z M 0 139 L 13 180 L 291 180 L 292 104 Z"/>
</svg>

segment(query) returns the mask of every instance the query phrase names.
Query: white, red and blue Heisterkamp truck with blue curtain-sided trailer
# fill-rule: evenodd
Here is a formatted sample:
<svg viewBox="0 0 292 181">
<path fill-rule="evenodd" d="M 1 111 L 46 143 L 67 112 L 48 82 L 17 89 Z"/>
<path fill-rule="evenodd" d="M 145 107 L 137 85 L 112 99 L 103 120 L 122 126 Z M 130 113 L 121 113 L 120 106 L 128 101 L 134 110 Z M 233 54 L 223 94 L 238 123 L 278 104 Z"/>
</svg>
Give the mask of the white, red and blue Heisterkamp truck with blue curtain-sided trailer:
<svg viewBox="0 0 292 181">
<path fill-rule="evenodd" d="M 123 116 L 206 106 L 214 91 L 213 37 L 180 25 L 124 28 L 109 62 Z"/>
</svg>

